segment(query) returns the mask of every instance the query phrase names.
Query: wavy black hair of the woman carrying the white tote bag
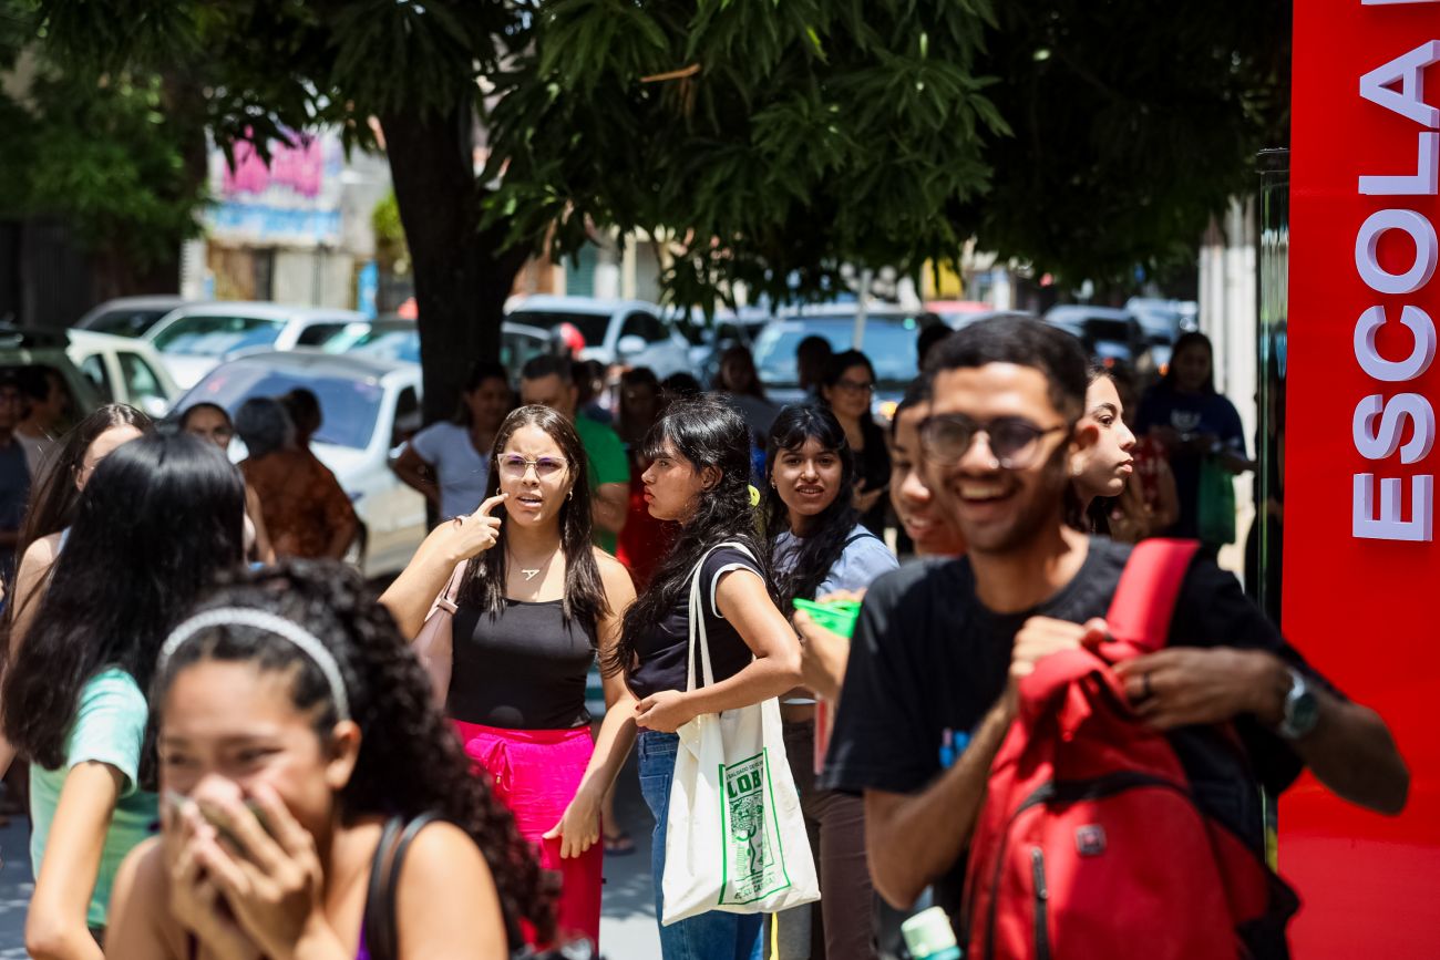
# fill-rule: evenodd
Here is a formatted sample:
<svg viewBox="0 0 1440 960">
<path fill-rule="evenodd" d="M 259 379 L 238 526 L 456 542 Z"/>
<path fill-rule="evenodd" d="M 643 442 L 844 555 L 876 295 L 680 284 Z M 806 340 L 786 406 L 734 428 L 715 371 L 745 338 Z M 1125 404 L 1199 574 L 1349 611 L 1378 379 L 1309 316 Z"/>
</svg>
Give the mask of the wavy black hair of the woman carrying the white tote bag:
<svg viewBox="0 0 1440 960">
<path fill-rule="evenodd" d="M 711 547 L 740 543 L 769 569 L 769 551 L 755 533 L 750 505 L 750 427 L 744 417 L 719 397 L 675 400 L 645 435 L 645 459 L 667 452 L 684 458 L 696 474 L 714 468 L 719 479 L 697 499 L 681 524 L 670 553 L 660 561 L 649 586 L 625 612 L 625 626 L 613 651 L 600 664 L 606 676 L 634 666 L 636 639 L 665 619 L 690 590 L 690 576 Z M 769 579 L 766 579 L 769 581 Z"/>
</svg>

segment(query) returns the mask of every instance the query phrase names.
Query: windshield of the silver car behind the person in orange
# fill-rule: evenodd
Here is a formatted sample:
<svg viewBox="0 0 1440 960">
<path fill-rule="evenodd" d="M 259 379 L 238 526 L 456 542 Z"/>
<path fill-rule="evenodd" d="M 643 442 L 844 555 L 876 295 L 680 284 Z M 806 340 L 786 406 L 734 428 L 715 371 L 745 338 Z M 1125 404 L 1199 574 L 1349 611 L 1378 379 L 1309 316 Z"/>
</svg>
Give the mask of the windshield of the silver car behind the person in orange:
<svg viewBox="0 0 1440 960">
<path fill-rule="evenodd" d="M 380 419 L 384 387 L 369 380 L 325 377 L 312 373 L 274 370 L 258 363 L 228 363 L 210 374 L 176 404 L 186 410 L 196 403 L 216 403 L 230 412 L 251 397 L 279 397 L 295 387 L 314 390 L 320 397 L 323 423 L 315 433 L 318 443 L 334 443 L 363 450 L 374 436 Z"/>
</svg>

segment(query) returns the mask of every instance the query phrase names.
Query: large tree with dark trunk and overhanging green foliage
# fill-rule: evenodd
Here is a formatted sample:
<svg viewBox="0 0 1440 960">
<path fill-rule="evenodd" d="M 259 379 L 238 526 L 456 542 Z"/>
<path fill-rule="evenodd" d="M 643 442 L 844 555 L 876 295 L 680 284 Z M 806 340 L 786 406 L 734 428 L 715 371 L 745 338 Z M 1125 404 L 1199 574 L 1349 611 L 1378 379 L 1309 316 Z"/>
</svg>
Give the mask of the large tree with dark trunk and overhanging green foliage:
<svg viewBox="0 0 1440 960">
<path fill-rule="evenodd" d="M 222 145 L 379 119 L 431 419 L 547 237 L 664 237 L 681 302 L 972 236 L 1103 281 L 1189 249 L 1283 137 L 1279 0 L 29 1 L 60 62 L 190 78 Z"/>
</svg>

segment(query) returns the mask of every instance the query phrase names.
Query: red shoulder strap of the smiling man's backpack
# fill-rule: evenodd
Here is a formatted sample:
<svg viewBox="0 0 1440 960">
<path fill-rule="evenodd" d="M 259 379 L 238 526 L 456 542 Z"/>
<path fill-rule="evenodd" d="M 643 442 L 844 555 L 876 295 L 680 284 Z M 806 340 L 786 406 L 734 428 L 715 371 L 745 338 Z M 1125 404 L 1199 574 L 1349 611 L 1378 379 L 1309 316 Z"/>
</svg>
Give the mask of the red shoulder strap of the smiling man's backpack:
<svg viewBox="0 0 1440 960">
<path fill-rule="evenodd" d="M 1198 550 L 1195 540 L 1142 540 L 1135 545 L 1106 615 L 1115 640 L 1104 645 L 1104 659 L 1116 662 L 1165 646 L 1181 584 Z"/>
</svg>

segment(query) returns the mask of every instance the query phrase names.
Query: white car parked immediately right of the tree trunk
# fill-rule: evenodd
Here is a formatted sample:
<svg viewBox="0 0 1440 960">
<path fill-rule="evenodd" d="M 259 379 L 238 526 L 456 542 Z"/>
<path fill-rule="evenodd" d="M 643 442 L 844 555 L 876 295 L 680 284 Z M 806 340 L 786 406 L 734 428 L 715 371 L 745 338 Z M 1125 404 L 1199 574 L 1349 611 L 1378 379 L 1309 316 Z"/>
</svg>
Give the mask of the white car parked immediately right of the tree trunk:
<svg viewBox="0 0 1440 960">
<path fill-rule="evenodd" d="M 585 341 L 577 344 L 580 360 L 649 367 L 661 379 L 691 370 L 690 341 L 642 299 L 526 296 L 505 320 L 547 331 L 570 324 Z"/>
</svg>

